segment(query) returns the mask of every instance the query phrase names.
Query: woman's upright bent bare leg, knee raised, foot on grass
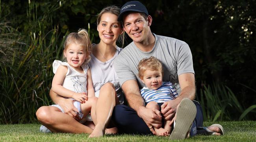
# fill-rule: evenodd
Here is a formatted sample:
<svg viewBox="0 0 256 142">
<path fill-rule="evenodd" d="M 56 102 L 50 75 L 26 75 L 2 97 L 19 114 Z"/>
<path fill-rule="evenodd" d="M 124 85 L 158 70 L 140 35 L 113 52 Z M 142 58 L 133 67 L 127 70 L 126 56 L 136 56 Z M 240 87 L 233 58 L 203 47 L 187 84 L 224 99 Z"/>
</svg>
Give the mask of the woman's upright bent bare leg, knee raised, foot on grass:
<svg viewBox="0 0 256 142">
<path fill-rule="evenodd" d="M 104 84 L 104 86 L 100 88 L 95 114 L 92 114 L 92 117 L 96 116 L 96 121 L 93 120 L 95 129 L 89 137 L 102 137 L 104 135 L 116 102 L 118 102 L 118 99 L 114 85 L 112 83 Z M 94 108 L 92 108 L 91 113 L 93 113 L 93 109 Z"/>
</svg>

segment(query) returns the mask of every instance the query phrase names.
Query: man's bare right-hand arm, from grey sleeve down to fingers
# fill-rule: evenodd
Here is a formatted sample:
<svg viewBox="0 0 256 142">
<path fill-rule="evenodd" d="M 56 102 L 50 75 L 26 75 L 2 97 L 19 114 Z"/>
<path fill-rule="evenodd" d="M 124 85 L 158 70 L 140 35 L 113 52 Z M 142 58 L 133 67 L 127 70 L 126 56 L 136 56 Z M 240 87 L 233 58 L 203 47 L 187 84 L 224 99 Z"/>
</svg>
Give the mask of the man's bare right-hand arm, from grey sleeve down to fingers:
<svg viewBox="0 0 256 142">
<path fill-rule="evenodd" d="M 193 73 L 185 73 L 178 76 L 181 92 L 179 96 L 172 100 L 164 102 L 161 106 L 161 113 L 165 120 L 171 120 L 177 109 L 177 105 L 184 98 L 195 99 L 195 75 Z"/>
</svg>

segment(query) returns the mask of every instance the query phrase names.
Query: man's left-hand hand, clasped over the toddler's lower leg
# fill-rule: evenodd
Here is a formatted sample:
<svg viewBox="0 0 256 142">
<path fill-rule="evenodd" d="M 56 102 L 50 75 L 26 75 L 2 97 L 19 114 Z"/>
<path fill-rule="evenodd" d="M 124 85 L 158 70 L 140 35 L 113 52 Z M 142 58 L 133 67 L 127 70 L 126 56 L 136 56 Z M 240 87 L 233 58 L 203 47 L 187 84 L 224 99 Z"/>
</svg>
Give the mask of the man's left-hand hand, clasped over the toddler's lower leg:
<svg viewBox="0 0 256 142">
<path fill-rule="evenodd" d="M 150 131 L 156 135 L 156 132 L 152 127 L 160 128 L 162 126 L 161 112 L 155 108 L 141 107 L 138 115 L 145 121 Z"/>
</svg>

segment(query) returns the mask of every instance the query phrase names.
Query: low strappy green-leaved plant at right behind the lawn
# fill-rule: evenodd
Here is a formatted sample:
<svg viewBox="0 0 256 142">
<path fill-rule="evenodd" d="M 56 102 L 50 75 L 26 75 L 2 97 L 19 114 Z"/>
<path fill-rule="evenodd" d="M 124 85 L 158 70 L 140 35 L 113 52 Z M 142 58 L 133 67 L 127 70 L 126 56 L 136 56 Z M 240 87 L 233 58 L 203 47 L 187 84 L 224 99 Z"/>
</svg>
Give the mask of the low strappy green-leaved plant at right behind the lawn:
<svg viewBox="0 0 256 142">
<path fill-rule="evenodd" d="M 206 121 L 241 120 L 252 112 L 255 105 L 244 109 L 236 95 L 227 86 L 214 84 L 200 90 L 200 103 Z M 255 113 L 255 112 L 254 112 Z"/>
</svg>

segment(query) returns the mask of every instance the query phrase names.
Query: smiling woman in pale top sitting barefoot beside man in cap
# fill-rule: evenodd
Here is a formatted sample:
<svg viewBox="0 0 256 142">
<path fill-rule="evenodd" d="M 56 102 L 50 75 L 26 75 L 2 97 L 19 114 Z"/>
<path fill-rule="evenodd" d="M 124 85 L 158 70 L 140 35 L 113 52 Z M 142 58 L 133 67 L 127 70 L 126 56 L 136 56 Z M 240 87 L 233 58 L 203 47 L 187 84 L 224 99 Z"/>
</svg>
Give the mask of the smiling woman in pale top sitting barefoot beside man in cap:
<svg viewBox="0 0 256 142">
<path fill-rule="evenodd" d="M 58 110 L 50 106 L 43 106 L 37 110 L 37 119 L 41 124 L 53 132 L 69 133 L 91 133 L 89 137 L 100 137 L 104 135 L 105 129 L 111 118 L 113 107 L 123 103 L 123 95 L 120 90 L 119 81 L 113 67 L 113 59 L 120 53 L 121 49 L 116 46 L 118 37 L 123 33 L 121 23 L 117 22 L 120 9 L 109 6 L 98 14 L 97 30 L 100 43 L 93 45 L 91 54 L 91 68 L 95 96 L 99 97 L 95 106 L 92 106 L 91 114 L 96 115 L 94 119 L 95 129 L 80 124 L 76 119 L 78 110 L 72 104 L 71 99 L 60 97 L 52 90 L 50 96 L 52 101 L 59 104 L 65 113 L 60 114 Z M 120 102 L 119 102 L 120 101 Z M 86 103 L 86 102 L 85 102 Z M 57 108 L 58 109 L 58 108 Z M 93 132 L 93 133 L 92 133 Z M 114 129 L 110 133 L 115 133 Z"/>
</svg>

